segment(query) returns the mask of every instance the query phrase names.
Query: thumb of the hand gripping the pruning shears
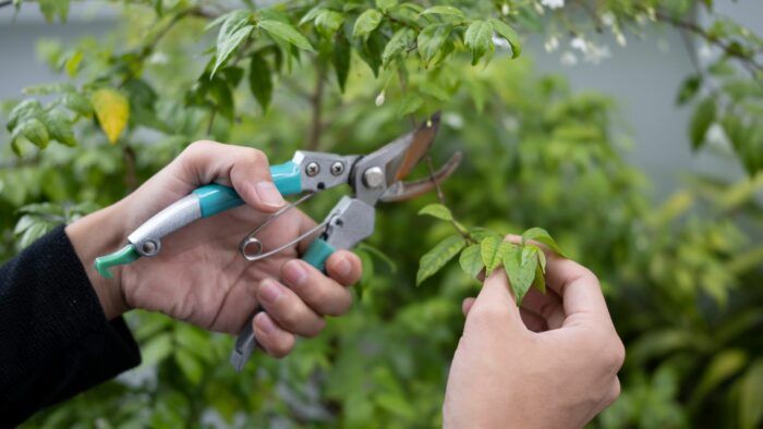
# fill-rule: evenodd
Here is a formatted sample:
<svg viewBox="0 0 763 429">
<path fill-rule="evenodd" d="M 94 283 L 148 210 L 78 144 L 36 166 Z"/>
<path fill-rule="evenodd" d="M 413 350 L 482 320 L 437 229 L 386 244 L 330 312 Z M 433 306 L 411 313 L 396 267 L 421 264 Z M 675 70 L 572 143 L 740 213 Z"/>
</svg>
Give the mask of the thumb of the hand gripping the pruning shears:
<svg viewBox="0 0 763 429">
<path fill-rule="evenodd" d="M 249 206 L 263 212 L 286 204 L 261 150 L 203 140 L 189 146 L 177 161 L 182 179 L 193 186 L 213 182 L 232 186 Z"/>
</svg>

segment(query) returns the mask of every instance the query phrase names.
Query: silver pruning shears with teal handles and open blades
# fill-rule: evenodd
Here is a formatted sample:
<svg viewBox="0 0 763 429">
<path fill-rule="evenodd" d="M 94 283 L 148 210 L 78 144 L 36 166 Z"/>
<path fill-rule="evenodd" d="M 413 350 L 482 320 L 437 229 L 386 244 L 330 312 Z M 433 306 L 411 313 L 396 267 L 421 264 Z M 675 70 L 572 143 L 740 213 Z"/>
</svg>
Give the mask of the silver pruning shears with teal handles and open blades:
<svg viewBox="0 0 763 429">
<path fill-rule="evenodd" d="M 426 179 L 402 181 L 428 151 L 438 125 L 439 114 L 435 114 L 412 132 L 368 155 L 340 156 L 300 150 L 291 161 L 271 166 L 270 174 L 281 195 L 304 195 L 243 237 L 239 252 L 247 260 L 256 261 L 319 234 L 302 255 L 302 259 L 325 270 L 326 259 L 334 252 L 350 249 L 374 232 L 376 203 L 417 197 L 437 186 L 456 170 L 461 161 L 460 152 L 453 154 L 443 168 Z M 257 238 L 257 233 L 263 228 L 315 193 L 343 184 L 352 189 L 351 196 L 343 196 L 323 222 L 289 243 L 265 252 Z M 156 256 L 161 249 L 161 240 L 172 232 L 198 219 L 243 204 L 231 187 L 218 184 L 198 187 L 137 228 L 128 236 L 129 244 L 125 247 L 96 258 L 95 268 L 105 278 L 110 278 L 110 267 L 131 263 L 143 256 Z M 257 309 L 255 315 L 258 311 L 262 309 Z M 256 346 L 252 323 L 246 323 L 230 357 L 237 370 L 243 368 Z"/>
</svg>

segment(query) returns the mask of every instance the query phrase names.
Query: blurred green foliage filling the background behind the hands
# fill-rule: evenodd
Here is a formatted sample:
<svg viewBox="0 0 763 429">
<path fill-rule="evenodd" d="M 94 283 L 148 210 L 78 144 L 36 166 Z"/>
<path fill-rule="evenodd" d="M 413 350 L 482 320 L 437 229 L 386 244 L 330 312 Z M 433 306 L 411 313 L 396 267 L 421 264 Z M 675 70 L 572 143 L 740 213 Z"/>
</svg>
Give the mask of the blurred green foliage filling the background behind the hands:
<svg viewBox="0 0 763 429">
<path fill-rule="evenodd" d="M 60 4 L 39 3 L 46 16 L 65 17 Z M 66 47 L 40 41 L 40 57 L 72 84 L 28 89 L 36 105 L 3 105 L 9 133 L 0 139 L 0 258 L 50 224 L 118 200 L 195 139 L 257 147 L 276 162 L 305 148 L 364 152 L 409 130 L 410 118 L 441 110 L 435 160 L 464 155 L 443 185 L 458 219 L 496 231 L 542 225 L 603 282 L 628 357 L 620 400 L 592 426 L 760 425 L 763 211 L 755 196 L 763 173 L 755 173 L 761 151 L 753 146 L 761 140 L 752 138 L 760 130 L 760 91 L 744 89 L 760 72 L 742 78 L 729 65 L 750 65 L 756 36 L 720 19 L 700 28 L 715 32 L 712 40 L 727 49 L 678 97 L 699 97 L 710 73 L 730 79 L 714 89 L 717 105 L 699 103 L 701 120 L 691 121 L 690 134 L 702 146 L 705 124 L 718 118 L 750 177 L 690 176 L 685 188 L 654 204 L 649 179 L 623 161 L 625 137 L 613 131 L 616 106 L 598 94 L 572 94 L 564 77 L 538 76 L 530 60 L 510 60 L 518 40 L 491 17 L 520 33 L 545 32 L 549 40 L 565 30 L 582 35 L 586 25 L 607 25 L 622 36 L 643 20 L 685 24 L 697 2 L 606 1 L 593 15 L 573 9 L 576 20 L 565 14 L 568 5 L 550 11 L 544 26 L 535 2 L 453 1 L 448 4 L 460 10 L 422 15 L 431 4 L 257 9 L 245 1 L 247 12 L 226 15 L 227 24 L 207 33 L 221 13 L 215 2 L 133 3 L 108 37 Z M 712 1 L 701 3 L 712 8 Z M 607 13 L 614 25 L 606 24 Z M 485 22 L 510 46 L 486 41 Z M 246 37 L 233 37 L 242 28 Z M 198 61 L 209 47 L 206 63 Z M 489 59 L 487 66 L 471 65 Z M 120 91 L 130 109 L 113 144 L 90 101 L 102 88 Z M 322 218 L 338 192 L 313 198 L 307 211 Z M 452 263 L 415 287 L 421 256 L 451 234 L 447 223 L 416 216 L 435 201 L 431 195 L 379 207 L 376 233 L 356 250 L 365 272 L 352 310 L 330 320 L 319 338 L 299 342 L 286 359 L 261 355 L 239 375 L 227 363 L 231 338 L 133 311 L 126 318 L 142 344 L 142 367 L 25 426 L 439 426 L 463 323 L 461 298 L 479 284 Z"/>
</svg>

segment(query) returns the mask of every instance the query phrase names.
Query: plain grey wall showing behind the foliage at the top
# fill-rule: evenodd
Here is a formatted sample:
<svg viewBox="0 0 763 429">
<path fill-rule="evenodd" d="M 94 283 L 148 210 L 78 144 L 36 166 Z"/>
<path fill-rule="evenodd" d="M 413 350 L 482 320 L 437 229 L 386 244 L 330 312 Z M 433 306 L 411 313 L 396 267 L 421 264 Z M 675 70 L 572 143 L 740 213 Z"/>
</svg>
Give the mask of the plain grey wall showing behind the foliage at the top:
<svg viewBox="0 0 763 429">
<path fill-rule="evenodd" d="M 66 42 L 85 34 L 99 35 L 117 19 L 113 7 L 98 2 L 74 3 L 72 9 L 66 25 L 45 23 L 34 4 L 25 5 L 15 21 L 12 8 L 0 9 L 0 99 L 19 97 L 25 86 L 61 78 L 37 61 L 37 38 L 57 37 Z M 763 1 L 716 1 L 716 10 L 763 34 Z M 689 149 L 686 130 L 691 110 L 677 109 L 675 96 L 692 65 L 677 32 L 647 32 L 644 39 L 630 36 L 627 48 L 614 40 L 606 42 L 611 58 L 600 64 L 561 65 L 562 49 L 545 52 L 540 37 L 531 38 L 524 50 L 535 59 L 540 72 L 562 73 L 573 89 L 604 91 L 618 102 L 634 143 L 628 159 L 655 182 L 655 197 L 663 198 L 675 189 L 681 171 L 742 175 L 736 161 L 693 155 Z"/>
</svg>

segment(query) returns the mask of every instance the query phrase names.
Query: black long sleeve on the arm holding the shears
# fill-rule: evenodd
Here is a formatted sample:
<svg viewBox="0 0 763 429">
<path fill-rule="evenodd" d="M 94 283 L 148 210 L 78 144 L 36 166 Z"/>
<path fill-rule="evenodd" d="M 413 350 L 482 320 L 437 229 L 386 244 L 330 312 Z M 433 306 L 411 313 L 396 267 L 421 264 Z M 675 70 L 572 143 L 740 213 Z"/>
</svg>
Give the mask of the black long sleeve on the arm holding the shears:
<svg viewBox="0 0 763 429">
<path fill-rule="evenodd" d="M 0 427 L 137 366 L 60 226 L 0 267 Z"/>
</svg>

